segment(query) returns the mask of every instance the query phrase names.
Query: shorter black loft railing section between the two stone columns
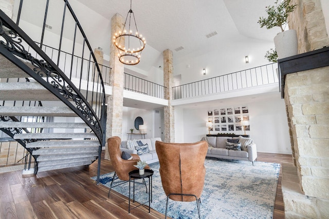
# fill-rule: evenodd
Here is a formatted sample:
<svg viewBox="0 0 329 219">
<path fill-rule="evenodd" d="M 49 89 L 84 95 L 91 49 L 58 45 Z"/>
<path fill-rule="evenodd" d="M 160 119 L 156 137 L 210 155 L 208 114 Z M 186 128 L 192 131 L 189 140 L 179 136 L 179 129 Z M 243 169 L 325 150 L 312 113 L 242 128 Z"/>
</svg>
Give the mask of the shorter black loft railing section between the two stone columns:
<svg viewBox="0 0 329 219">
<path fill-rule="evenodd" d="M 165 98 L 165 93 L 167 89 L 165 86 L 158 85 L 156 83 L 127 73 L 124 73 L 123 88 L 125 90 L 130 90 L 136 93 L 142 93 L 162 99 Z"/>
</svg>

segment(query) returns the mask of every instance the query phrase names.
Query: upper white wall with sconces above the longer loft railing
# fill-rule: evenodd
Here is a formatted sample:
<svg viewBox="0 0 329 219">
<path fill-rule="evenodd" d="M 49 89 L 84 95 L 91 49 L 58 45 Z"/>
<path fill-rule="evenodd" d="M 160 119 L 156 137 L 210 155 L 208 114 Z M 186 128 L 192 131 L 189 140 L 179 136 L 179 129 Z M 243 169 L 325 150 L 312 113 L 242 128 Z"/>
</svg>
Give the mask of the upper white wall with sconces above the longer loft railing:
<svg viewBox="0 0 329 219">
<path fill-rule="evenodd" d="M 249 68 L 269 64 L 264 55 L 274 43 L 240 36 L 240 40 L 232 42 L 223 48 L 213 48 L 200 54 L 190 54 L 175 59 L 174 75 L 181 74 L 181 84 L 229 74 Z M 245 56 L 249 56 L 249 63 L 245 63 Z M 189 67 L 188 67 L 189 66 Z M 207 74 L 202 74 L 206 68 Z"/>
</svg>

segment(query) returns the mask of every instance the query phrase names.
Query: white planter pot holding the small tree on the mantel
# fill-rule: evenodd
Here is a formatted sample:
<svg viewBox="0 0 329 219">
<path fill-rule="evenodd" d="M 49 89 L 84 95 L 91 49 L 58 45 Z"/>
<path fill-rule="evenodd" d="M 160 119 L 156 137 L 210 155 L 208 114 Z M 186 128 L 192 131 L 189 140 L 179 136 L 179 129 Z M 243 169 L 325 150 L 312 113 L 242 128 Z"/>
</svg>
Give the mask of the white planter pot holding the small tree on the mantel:
<svg viewBox="0 0 329 219">
<path fill-rule="evenodd" d="M 276 46 L 279 59 L 297 55 L 298 43 L 296 30 L 286 30 L 278 33 L 274 37 L 274 45 Z"/>
</svg>

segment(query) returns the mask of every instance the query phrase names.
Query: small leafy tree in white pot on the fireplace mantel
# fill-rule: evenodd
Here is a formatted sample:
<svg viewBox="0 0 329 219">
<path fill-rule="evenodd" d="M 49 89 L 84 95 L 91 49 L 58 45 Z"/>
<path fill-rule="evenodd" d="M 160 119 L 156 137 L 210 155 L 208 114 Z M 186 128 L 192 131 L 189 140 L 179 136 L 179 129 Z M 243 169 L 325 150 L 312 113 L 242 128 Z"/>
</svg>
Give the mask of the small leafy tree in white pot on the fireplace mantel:
<svg viewBox="0 0 329 219">
<path fill-rule="evenodd" d="M 281 1 L 281 0 L 280 0 Z M 297 55 L 297 32 L 296 30 L 286 30 L 288 15 L 295 10 L 297 5 L 290 5 L 291 0 L 284 0 L 278 4 L 279 0 L 275 2 L 275 6 L 266 7 L 267 18 L 260 17 L 258 23 L 261 27 L 271 29 L 273 27 L 280 27 L 281 33 L 274 37 L 274 44 L 278 53 L 278 58 L 285 58 L 292 55 Z"/>
</svg>

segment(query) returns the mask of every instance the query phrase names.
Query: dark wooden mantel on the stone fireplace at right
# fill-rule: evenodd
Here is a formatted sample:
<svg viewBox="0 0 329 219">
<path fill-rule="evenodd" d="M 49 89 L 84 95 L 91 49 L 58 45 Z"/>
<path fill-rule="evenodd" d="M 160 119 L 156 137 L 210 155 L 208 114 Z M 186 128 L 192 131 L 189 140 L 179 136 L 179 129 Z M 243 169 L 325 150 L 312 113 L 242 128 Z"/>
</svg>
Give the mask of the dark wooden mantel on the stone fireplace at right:
<svg viewBox="0 0 329 219">
<path fill-rule="evenodd" d="M 279 59 L 278 68 L 281 97 L 284 97 L 284 80 L 286 74 L 326 66 L 329 66 L 329 47 Z"/>
</svg>

